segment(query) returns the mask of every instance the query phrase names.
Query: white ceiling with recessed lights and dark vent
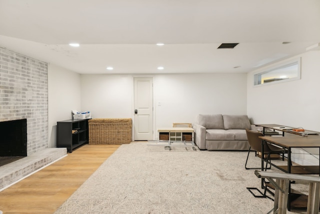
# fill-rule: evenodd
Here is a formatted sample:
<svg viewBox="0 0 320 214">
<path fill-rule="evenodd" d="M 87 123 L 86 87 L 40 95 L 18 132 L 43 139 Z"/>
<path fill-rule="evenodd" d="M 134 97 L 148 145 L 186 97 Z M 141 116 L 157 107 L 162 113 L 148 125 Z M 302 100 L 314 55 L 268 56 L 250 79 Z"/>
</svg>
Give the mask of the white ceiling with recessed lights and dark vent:
<svg viewBox="0 0 320 214">
<path fill-rule="evenodd" d="M 0 47 L 81 74 L 245 73 L 319 42 L 319 0 L 0 0 Z"/>
</svg>

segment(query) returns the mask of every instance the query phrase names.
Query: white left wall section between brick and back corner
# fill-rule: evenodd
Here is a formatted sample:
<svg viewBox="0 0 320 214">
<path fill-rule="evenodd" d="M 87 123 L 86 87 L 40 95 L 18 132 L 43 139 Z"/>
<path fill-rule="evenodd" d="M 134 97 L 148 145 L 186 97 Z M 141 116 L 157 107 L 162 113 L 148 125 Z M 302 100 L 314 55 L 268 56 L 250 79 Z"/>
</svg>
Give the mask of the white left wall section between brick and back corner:
<svg viewBox="0 0 320 214">
<path fill-rule="evenodd" d="M 56 147 L 56 122 L 71 119 L 71 110 L 80 109 L 80 75 L 48 66 L 48 147 Z"/>
</svg>

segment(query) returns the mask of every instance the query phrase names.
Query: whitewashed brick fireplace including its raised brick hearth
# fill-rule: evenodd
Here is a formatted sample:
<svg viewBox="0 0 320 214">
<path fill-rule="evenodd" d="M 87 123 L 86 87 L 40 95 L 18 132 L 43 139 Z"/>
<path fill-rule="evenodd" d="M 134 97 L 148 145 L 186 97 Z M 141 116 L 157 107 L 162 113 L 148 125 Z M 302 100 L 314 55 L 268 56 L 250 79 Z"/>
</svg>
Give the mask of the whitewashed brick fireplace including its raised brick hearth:
<svg viewBox="0 0 320 214">
<path fill-rule="evenodd" d="M 47 74 L 47 63 L 0 47 L 0 123 L 21 120 L 26 124 L 26 147 L 22 149 L 26 157 L 0 166 L 0 190 L 66 153 L 63 148 L 48 148 Z M 8 129 L 20 128 L 15 124 Z M 0 132 L 2 146 L 4 132 Z"/>
</svg>

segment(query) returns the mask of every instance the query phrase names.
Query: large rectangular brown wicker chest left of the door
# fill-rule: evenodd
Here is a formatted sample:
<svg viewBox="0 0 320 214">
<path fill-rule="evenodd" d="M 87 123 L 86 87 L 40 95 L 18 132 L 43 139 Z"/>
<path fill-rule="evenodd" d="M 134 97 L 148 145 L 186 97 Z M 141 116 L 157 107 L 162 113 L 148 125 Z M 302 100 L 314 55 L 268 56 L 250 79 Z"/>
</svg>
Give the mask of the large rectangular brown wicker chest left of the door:
<svg viewBox="0 0 320 214">
<path fill-rule="evenodd" d="M 88 120 L 89 144 L 125 144 L 132 141 L 131 118 Z"/>
</svg>

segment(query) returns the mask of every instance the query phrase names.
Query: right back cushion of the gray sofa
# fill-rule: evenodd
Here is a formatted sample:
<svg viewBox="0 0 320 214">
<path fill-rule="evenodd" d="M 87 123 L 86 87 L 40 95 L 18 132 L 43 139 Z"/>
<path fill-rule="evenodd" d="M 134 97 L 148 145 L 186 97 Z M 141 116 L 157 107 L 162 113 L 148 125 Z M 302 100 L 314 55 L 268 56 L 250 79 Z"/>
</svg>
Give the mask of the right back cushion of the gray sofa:
<svg viewBox="0 0 320 214">
<path fill-rule="evenodd" d="M 251 129 L 247 115 L 223 115 L 224 129 Z"/>
</svg>

